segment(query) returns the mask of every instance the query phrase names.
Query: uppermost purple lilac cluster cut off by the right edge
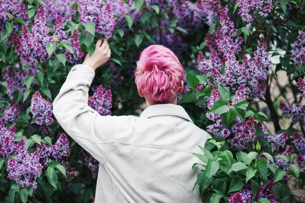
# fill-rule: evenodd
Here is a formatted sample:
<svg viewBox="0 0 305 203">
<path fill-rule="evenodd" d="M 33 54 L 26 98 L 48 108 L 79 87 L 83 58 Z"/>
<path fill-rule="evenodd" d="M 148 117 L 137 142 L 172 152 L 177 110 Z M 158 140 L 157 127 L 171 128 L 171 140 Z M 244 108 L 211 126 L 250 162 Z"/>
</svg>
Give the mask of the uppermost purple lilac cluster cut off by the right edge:
<svg viewBox="0 0 305 203">
<path fill-rule="evenodd" d="M 292 45 L 291 58 L 294 60 L 295 66 L 305 63 L 305 27 L 300 31 L 297 40 Z"/>
</svg>

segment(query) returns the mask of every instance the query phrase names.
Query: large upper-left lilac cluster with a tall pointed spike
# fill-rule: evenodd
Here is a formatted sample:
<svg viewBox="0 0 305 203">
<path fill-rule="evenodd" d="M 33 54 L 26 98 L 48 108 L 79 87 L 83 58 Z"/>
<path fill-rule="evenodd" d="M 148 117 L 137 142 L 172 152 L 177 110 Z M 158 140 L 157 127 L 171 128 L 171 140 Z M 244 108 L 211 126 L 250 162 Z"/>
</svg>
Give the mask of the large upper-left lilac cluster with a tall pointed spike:
<svg viewBox="0 0 305 203">
<path fill-rule="evenodd" d="M 34 64 L 45 62 L 48 58 L 46 45 L 52 39 L 49 36 L 50 28 L 46 26 L 45 10 L 41 6 L 34 19 L 32 33 L 26 25 L 22 27 L 21 39 L 16 33 L 13 37 L 15 52 L 21 55 L 23 63 Z"/>
</svg>

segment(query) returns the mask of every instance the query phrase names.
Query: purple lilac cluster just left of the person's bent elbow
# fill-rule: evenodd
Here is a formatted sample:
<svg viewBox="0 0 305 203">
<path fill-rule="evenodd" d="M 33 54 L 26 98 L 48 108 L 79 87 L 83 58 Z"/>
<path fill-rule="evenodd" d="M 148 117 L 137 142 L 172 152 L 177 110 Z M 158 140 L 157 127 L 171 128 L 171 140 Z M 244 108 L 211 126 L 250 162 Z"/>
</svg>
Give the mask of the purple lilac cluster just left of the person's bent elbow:
<svg viewBox="0 0 305 203">
<path fill-rule="evenodd" d="M 52 104 L 50 101 L 41 97 L 39 91 L 36 91 L 32 97 L 31 113 L 36 116 L 35 122 L 38 125 L 53 125 Z"/>
</svg>

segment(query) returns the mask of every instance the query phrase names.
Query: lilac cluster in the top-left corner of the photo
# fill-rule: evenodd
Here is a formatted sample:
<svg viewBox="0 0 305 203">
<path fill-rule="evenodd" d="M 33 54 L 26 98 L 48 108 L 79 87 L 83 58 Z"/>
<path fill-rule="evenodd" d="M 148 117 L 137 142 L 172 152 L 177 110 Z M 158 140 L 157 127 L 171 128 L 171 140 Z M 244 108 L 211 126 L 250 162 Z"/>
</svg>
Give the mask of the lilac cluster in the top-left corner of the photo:
<svg viewBox="0 0 305 203">
<path fill-rule="evenodd" d="M 11 14 L 13 17 L 10 19 L 7 13 Z M 26 21 L 25 5 L 22 4 L 20 0 L 0 1 L 0 31 L 6 27 L 6 22 L 11 22 L 14 18 L 21 18 L 23 21 Z M 19 23 L 14 22 L 13 30 L 18 30 L 19 26 Z"/>
</svg>

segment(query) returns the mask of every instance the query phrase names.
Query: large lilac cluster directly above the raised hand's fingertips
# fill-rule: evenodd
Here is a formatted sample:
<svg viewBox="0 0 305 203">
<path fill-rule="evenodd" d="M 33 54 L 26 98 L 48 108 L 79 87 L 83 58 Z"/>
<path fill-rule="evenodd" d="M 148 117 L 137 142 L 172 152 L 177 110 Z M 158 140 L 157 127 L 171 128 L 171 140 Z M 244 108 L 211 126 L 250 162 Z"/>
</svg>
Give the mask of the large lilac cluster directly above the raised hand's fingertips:
<svg viewBox="0 0 305 203">
<path fill-rule="evenodd" d="M 112 36 L 114 19 L 110 4 L 103 6 L 103 3 L 99 0 L 78 0 L 79 22 L 82 24 L 94 22 L 96 31 L 109 39 Z"/>
</svg>

